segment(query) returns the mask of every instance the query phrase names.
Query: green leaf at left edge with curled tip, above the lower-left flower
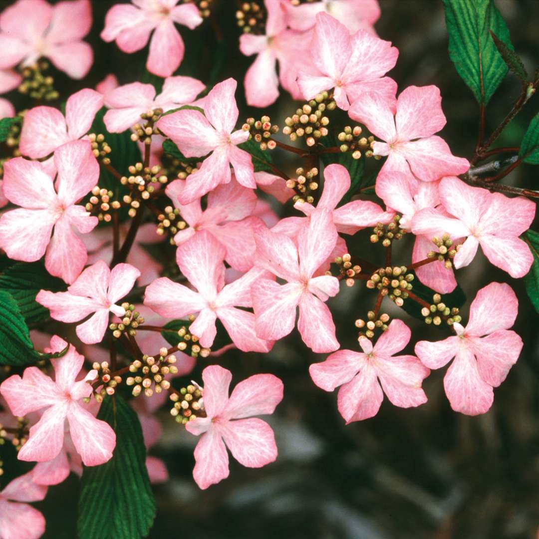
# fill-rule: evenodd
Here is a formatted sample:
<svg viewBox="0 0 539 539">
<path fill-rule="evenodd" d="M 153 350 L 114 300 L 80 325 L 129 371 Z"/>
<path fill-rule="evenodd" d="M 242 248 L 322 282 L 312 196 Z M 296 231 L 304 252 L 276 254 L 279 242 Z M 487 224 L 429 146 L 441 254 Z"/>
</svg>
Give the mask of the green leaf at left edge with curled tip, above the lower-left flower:
<svg viewBox="0 0 539 539">
<path fill-rule="evenodd" d="M 17 301 L 5 290 L 0 290 L 0 364 L 22 367 L 40 360 L 61 357 L 67 347 L 56 354 L 40 354 L 34 350 L 30 331 Z"/>
</svg>

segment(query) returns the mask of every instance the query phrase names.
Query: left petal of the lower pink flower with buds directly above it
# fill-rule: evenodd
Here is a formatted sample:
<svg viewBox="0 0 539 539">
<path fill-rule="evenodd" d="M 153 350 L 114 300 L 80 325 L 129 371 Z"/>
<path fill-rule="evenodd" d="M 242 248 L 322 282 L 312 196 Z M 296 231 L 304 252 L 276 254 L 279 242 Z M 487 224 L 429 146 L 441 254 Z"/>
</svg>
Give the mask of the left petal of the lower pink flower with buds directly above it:
<svg viewBox="0 0 539 539">
<path fill-rule="evenodd" d="M 326 361 L 309 367 L 310 377 L 319 388 L 333 391 L 338 385 L 351 381 L 365 365 L 365 354 L 352 350 L 337 350 Z"/>
</svg>

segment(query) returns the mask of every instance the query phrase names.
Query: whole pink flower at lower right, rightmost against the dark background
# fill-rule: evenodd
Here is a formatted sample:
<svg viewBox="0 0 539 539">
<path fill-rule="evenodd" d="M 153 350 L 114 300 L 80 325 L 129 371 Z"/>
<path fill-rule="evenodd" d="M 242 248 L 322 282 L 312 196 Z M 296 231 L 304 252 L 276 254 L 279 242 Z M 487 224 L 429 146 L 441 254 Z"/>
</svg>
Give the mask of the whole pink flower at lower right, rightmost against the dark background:
<svg viewBox="0 0 539 539">
<path fill-rule="evenodd" d="M 506 379 L 522 350 L 522 339 L 508 331 L 518 308 L 509 285 L 491 282 L 475 296 L 467 326 L 453 324 L 457 336 L 416 344 L 416 354 L 430 369 L 455 358 L 444 377 L 445 394 L 455 412 L 476 416 L 492 406 L 493 388 Z"/>
</svg>

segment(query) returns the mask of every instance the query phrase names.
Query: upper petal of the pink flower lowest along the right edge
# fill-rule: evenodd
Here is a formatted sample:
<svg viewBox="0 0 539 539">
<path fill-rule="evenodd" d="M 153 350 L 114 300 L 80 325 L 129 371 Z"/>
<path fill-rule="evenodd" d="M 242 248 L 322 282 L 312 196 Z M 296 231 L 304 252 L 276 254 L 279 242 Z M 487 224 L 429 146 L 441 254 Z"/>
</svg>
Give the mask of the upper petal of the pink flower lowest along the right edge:
<svg viewBox="0 0 539 539">
<path fill-rule="evenodd" d="M 470 306 L 466 335 L 481 337 L 515 323 L 519 301 L 513 289 L 501 282 L 491 282 L 480 289 Z"/>
</svg>

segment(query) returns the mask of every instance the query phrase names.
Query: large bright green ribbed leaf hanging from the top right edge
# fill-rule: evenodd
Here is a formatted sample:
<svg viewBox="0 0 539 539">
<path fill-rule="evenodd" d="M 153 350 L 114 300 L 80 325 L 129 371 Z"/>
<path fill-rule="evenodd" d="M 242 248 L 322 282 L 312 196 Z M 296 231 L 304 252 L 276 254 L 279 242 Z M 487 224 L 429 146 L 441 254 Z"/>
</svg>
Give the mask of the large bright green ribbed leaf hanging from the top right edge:
<svg viewBox="0 0 539 539">
<path fill-rule="evenodd" d="M 443 0 L 449 56 L 480 105 L 487 105 L 508 68 L 489 31 L 514 51 L 493 0 Z"/>
</svg>

